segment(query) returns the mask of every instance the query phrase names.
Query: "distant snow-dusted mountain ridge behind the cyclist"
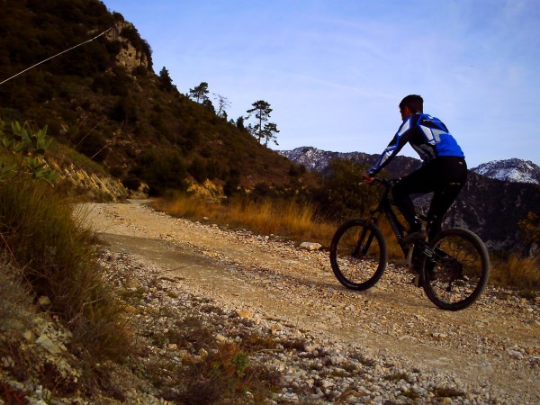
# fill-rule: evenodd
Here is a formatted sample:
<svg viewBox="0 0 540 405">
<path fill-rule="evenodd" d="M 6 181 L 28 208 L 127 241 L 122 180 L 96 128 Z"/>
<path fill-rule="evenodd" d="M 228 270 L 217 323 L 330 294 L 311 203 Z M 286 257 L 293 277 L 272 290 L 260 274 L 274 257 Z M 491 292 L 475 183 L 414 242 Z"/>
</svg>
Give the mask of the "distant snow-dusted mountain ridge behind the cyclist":
<svg viewBox="0 0 540 405">
<path fill-rule="evenodd" d="M 308 170 L 325 173 L 333 158 L 348 158 L 373 165 L 379 155 L 361 152 L 330 152 L 312 147 L 294 148 L 279 152 Z M 390 177 L 410 173 L 420 164 L 419 159 L 397 156 L 385 167 Z M 493 250 L 514 248 L 533 251 L 534 247 L 518 246 L 519 220 L 528 212 L 540 214 L 540 167 L 530 161 L 509 159 L 493 161 L 474 167 L 464 190 L 446 215 L 446 226 L 459 226 L 476 232 Z M 426 209 L 427 198 L 416 200 Z"/>
</svg>

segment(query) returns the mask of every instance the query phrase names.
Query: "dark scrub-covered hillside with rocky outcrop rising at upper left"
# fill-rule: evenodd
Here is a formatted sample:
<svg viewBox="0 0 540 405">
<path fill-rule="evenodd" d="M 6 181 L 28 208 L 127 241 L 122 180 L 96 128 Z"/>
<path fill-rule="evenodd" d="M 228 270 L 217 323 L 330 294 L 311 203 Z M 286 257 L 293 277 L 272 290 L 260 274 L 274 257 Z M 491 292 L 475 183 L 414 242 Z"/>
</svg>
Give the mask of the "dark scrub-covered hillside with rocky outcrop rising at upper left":
<svg viewBox="0 0 540 405">
<path fill-rule="evenodd" d="M 0 85 L 3 121 L 48 125 L 64 147 L 124 181 L 149 184 L 151 193 L 184 189 L 186 180 L 211 179 L 232 191 L 289 182 L 290 161 L 211 103 L 182 94 L 165 67 L 157 75 L 150 45 L 102 2 L 7 0 L 2 7 L 0 81 L 106 31 Z"/>
</svg>

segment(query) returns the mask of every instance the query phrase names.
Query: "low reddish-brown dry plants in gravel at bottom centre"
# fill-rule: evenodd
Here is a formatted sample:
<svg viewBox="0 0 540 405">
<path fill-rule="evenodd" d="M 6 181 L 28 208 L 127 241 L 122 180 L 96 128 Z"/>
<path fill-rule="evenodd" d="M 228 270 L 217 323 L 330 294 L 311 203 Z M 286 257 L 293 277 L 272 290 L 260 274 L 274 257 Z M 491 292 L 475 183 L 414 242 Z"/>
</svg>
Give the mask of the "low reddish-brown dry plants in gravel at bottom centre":
<svg viewBox="0 0 540 405">
<path fill-rule="evenodd" d="M 266 401 L 271 392 L 282 386 L 282 375 L 264 365 L 257 365 L 252 355 L 257 350 L 275 346 L 271 338 L 244 336 L 238 342 L 218 341 L 211 323 L 188 313 L 175 320 L 162 339 L 152 337 L 157 346 L 174 343 L 190 352 L 182 364 L 166 358 L 152 360 L 147 375 L 154 386 L 163 390 L 162 397 L 175 403 L 237 403 L 246 399 L 254 403 Z M 263 348 L 264 347 L 264 348 Z M 239 402 L 243 403 L 243 402 Z M 251 402 L 250 402 L 251 403 Z"/>
</svg>

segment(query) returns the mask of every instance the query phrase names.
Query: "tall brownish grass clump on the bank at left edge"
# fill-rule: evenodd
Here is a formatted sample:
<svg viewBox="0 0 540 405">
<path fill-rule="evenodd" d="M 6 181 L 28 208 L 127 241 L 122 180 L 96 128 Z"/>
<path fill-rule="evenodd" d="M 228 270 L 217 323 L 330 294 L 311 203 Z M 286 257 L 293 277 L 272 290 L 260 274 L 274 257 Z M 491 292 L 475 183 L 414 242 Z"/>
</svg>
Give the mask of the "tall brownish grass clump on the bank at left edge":
<svg viewBox="0 0 540 405">
<path fill-rule="evenodd" d="M 74 333 L 81 353 L 121 361 L 130 352 L 130 330 L 82 218 L 42 182 L 1 184 L 0 201 L 0 249 L 22 269 L 33 298 L 49 298 L 48 310 Z"/>
</svg>

